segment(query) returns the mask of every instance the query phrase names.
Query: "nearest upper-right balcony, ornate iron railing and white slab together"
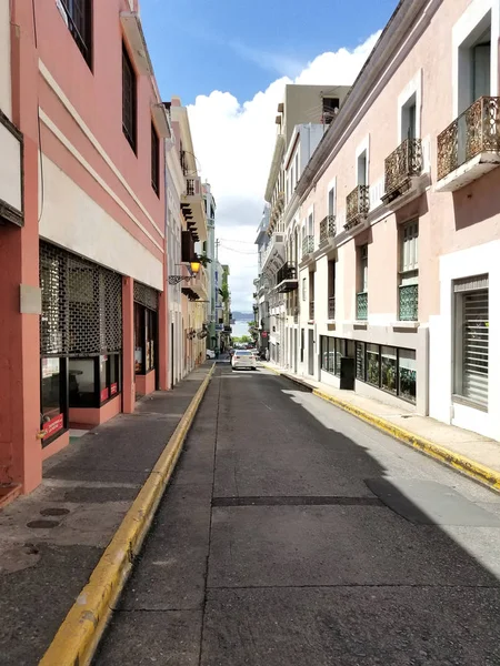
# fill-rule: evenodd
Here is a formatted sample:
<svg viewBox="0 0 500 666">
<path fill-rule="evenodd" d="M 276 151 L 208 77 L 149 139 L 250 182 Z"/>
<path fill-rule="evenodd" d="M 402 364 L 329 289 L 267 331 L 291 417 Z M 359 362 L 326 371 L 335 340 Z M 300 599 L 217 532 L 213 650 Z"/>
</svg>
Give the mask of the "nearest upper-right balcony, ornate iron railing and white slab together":
<svg viewBox="0 0 500 666">
<path fill-rule="evenodd" d="M 438 135 L 438 192 L 453 192 L 500 164 L 500 98 L 481 97 Z"/>
</svg>

